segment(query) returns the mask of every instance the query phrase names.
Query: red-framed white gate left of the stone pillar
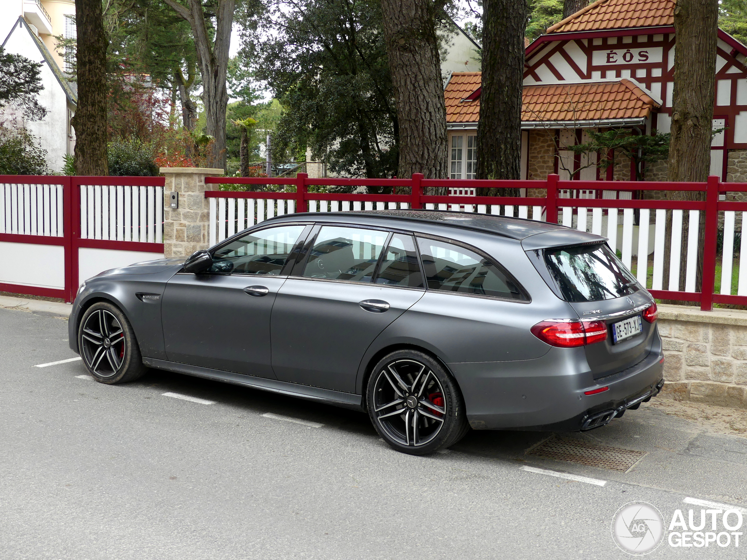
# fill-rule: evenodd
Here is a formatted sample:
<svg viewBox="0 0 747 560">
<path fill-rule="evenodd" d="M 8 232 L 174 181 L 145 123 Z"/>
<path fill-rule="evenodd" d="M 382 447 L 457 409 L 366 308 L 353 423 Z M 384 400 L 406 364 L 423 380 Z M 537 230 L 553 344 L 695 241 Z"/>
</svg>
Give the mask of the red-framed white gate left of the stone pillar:
<svg viewBox="0 0 747 560">
<path fill-rule="evenodd" d="M 163 177 L 0 175 L 0 291 L 75 299 L 103 270 L 164 255 Z"/>
</svg>

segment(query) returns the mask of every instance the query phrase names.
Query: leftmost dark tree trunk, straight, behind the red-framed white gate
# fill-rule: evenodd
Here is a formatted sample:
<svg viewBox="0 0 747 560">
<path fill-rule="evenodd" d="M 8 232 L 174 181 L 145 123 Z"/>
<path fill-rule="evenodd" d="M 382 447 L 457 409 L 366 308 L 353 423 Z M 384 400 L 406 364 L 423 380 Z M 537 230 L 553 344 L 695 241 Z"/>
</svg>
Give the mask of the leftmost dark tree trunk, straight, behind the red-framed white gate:
<svg viewBox="0 0 747 560">
<path fill-rule="evenodd" d="M 75 0 L 78 25 L 78 107 L 75 128 L 75 173 L 108 175 L 106 157 L 106 49 L 100 0 Z"/>
</svg>

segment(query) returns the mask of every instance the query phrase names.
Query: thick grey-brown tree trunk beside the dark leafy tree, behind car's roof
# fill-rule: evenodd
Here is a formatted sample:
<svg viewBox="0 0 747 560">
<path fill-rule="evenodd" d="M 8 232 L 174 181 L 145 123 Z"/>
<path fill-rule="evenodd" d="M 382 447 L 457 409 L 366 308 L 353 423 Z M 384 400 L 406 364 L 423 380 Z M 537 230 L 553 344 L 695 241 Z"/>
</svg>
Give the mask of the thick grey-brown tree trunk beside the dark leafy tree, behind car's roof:
<svg viewBox="0 0 747 560">
<path fill-rule="evenodd" d="M 442 4 L 441 4 L 442 5 Z M 446 105 L 433 0 L 382 0 L 386 52 L 397 99 L 398 177 L 447 177 Z"/>
</svg>

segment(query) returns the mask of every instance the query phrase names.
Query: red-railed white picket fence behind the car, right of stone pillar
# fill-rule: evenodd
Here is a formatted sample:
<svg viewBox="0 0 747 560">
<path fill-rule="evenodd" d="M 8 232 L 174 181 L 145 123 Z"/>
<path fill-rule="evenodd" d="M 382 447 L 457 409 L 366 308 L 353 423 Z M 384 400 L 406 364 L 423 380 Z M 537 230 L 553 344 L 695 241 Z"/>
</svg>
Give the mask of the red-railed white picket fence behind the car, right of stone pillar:
<svg viewBox="0 0 747 560">
<path fill-rule="evenodd" d="M 295 192 L 239 192 L 208 190 L 210 199 L 211 244 L 267 218 L 294 212 L 337 212 L 382 210 L 391 208 L 427 208 L 463 212 L 478 212 L 533 220 L 562 223 L 582 231 L 591 231 L 610 239 L 609 244 L 622 254 L 626 267 L 636 270 L 636 277 L 654 297 L 699 302 L 701 309 L 710 311 L 714 303 L 747 305 L 746 241 L 734 247 L 737 223 L 741 231 L 747 229 L 747 202 L 719 200 L 719 193 L 747 192 L 747 184 L 721 183 L 711 176 L 707 183 L 656 181 L 560 181 L 550 175 L 546 181 L 481 181 L 455 179 L 424 179 L 415 174 L 411 179 L 332 179 L 308 178 L 300 173 L 297 178 L 205 178 L 208 184 L 276 185 Z M 350 194 L 314 193 L 309 187 L 396 187 L 406 194 Z M 445 187 L 447 192 L 468 192 L 468 195 L 435 196 L 424 194 L 432 187 Z M 486 188 L 546 189 L 542 197 L 480 196 Z M 288 189 L 290 190 L 290 189 Z M 689 190 L 704 191 L 705 201 L 684 202 L 669 200 L 633 199 L 633 192 Z M 601 198 L 578 196 L 575 193 L 602 193 Z M 473 194 L 477 192 L 477 194 Z M 638 225 L 635 211 L 639 211 Z M 672 211 L 672 231 L 666 236 L 666 214 Z M 741 216 L 737 218 L 737 213 Z M 686 252 L 681 254 L 683 223 L 689 228 Z M 701 223 L 701 220 L 704 220 Z M 719 223 L 723 224 L 723 251 L 717 257 L 716 245 Z M 704 228 L 704 257 L 702 289 L 695 291 L 698 268 L 698 228 Z M 664 256 L 669 254 L 669 276 L 664 278 Z M 743 250 L 745 249 L 745 250 Z M 738 252 L 734 273 L 734 252 Z M 653 261 L 651 263 L 651 261 Z M 649 266 L 651 264 L 651 266 Z M 743 264 L 745 266 L 743 266 Z M 720 266 L 719 266 L 720 265 Z M 684 267 L 684 285 L 680 271 Z M 651 273 L 649 273 L 651 268 Z M 717 273 L 721 281 L 714 293 Z"/>
</svg>

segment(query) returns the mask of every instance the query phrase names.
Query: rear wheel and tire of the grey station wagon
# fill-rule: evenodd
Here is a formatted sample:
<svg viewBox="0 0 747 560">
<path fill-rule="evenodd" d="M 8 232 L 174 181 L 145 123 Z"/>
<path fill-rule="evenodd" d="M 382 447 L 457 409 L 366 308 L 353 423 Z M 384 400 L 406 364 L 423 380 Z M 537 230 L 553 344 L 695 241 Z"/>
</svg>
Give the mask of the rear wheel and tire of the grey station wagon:
<svg viewBox="0 0 747 560">
<path fill-rule="evenodd" d="M 470 429 L 456 382 L 438 361 L 417 350 L 391 352 L 373 367 L 366 404 L 382 439 L 410 455 L 450 447 Z"/>
</svg>

